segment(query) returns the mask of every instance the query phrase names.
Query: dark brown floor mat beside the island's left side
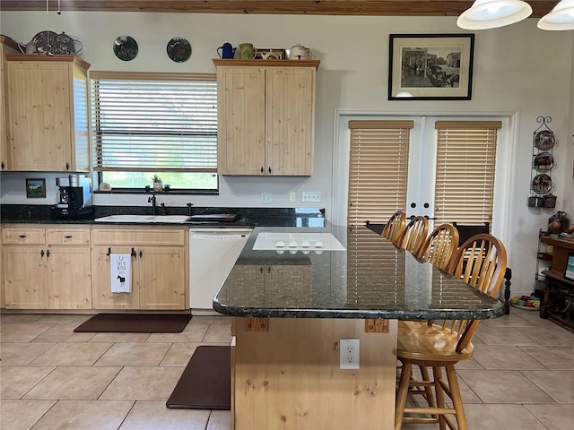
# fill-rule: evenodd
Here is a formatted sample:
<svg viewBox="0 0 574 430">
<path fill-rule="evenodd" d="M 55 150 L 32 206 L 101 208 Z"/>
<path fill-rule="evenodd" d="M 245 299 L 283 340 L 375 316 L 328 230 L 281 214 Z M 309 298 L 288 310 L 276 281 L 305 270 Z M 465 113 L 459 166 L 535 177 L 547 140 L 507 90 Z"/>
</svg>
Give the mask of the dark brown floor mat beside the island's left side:
<svg viewBox="0 0 574 430">
<path fill-rule="evenodd" d="M 170 409 L 230 410 L 230 347 L 197 347 L 166 406 Z"/>
</svg>

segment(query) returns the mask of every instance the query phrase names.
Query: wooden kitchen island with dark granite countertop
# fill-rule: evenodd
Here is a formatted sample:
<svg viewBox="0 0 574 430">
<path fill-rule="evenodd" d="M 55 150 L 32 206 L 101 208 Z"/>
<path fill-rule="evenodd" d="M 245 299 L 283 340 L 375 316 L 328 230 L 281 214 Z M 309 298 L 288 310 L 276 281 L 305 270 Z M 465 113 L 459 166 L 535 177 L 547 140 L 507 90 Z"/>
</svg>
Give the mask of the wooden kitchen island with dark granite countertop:
<svg viewBox="0 0 574 430">
<path fill-rule="evenodd" d="M 496 318 L 503 304 L 368 228 L 304 230 L 310 246 L 277 252 L 252 249 L 258 234 L 301 229 L 256 228 L 213 300 L 233 317 L 232 428 L 392 429 L 397 321 Z M 314 232 L 346 250 L 314 248 Z M 349 338 L 359 369 L 340 368 Z"/>
</svg>

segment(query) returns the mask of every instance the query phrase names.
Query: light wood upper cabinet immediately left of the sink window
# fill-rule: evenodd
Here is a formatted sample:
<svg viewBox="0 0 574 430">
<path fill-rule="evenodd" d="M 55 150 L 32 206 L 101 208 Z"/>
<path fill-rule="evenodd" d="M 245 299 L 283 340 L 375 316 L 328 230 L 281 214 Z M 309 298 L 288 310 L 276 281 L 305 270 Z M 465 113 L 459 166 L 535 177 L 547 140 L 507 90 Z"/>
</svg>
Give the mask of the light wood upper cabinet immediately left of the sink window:
<svg viewBox="0 0 574 430">
<path fill-rule="evenodd" d="M 10 169 L 88 171 L 90 64 L 77 56 L 6 56 Z"/>
</svg>

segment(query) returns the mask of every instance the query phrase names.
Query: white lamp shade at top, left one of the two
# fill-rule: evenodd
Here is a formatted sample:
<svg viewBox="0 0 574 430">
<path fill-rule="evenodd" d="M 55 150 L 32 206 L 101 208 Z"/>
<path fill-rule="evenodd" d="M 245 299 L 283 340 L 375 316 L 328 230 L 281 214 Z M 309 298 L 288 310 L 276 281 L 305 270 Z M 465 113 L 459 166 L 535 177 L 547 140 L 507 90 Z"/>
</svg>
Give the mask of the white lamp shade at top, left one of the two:
<svg viewBox="0 0 574 430">
<path fill-rule="evenodd" d="M 460 14 L 457 26 L 465 30 L 496 29 L 525 20 L 531 14 L 530 4 L 521 0 L 476 0 Z"/>
</svg>

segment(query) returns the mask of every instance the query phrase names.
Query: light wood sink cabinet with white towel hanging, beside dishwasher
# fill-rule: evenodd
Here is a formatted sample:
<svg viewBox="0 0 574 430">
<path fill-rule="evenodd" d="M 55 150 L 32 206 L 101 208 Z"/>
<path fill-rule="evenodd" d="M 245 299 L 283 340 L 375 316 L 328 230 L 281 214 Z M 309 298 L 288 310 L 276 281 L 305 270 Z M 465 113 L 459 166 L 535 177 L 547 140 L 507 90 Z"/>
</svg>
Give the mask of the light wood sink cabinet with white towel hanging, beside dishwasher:
<svg viewBox="0 0 574 430">
<path fill-rule="evenodd" d="M 93 228 L 94 309 L 184 310 L 186 228 Z M 109 254 L 132 254 L 132 290 L 112 293 Z"/>
</svg>

